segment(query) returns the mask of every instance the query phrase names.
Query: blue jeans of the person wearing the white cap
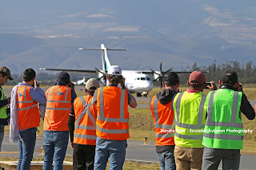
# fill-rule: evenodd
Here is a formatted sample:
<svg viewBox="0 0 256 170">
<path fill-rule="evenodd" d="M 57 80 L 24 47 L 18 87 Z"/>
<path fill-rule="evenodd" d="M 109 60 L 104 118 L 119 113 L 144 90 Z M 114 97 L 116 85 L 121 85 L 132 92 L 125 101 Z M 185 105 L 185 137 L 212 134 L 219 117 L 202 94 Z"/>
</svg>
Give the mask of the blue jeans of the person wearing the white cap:
<svg viewBox="0 0 256 170">
<path fill-rule="evenodd" d="M 122 170 L 126 158 L 126 140 L 106 140 L 97 137 L 94 170 L 105 170 L 110 157 L 110 170 Z"/>
</svg>

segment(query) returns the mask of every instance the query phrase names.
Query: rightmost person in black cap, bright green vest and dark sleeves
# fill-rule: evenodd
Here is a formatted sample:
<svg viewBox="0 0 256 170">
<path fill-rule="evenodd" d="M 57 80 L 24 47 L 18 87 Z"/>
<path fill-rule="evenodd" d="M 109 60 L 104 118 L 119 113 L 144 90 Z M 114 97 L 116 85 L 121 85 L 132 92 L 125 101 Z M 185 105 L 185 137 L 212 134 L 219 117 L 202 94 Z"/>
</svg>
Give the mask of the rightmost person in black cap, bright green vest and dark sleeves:
<svg viewBox="0 0 256 170">
<path fill-rule="evenodd" d="M 242 92 L 238 74 L 232 70 L 222 73 L 220 88 L 208 93 L 206 97 L 207 120 L 202 144 L 206 147 L 202 156 L 202 169 L 239 169 L 240 149 L 244 130 L 241 112 L 249 119 L 255 117 L 254 108 Z"/>
</svg>

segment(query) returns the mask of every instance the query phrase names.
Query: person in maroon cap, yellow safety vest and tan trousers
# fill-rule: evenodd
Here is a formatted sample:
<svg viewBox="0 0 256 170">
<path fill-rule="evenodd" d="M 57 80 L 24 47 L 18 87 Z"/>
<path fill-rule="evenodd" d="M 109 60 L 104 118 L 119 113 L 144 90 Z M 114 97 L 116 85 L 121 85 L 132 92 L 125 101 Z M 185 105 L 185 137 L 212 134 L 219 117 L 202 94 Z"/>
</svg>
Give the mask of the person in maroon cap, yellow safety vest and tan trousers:
<svg viewBox="0 0 256 170">
<path fill-rule="evenodd" d="M 190 73 L 189 89 L 174 97 L 175 148 L 177 169 L 202 169 L 202 130 L 206 123 L 206 77 L 200 71 Z"/>
</svg>

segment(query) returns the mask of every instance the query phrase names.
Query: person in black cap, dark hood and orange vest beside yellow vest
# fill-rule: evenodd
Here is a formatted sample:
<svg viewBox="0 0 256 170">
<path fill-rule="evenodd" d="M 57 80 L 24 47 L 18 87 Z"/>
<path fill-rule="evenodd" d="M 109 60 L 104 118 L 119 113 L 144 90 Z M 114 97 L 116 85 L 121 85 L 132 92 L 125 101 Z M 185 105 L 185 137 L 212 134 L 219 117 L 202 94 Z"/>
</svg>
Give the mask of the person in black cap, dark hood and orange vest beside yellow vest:
<svg viewBox="0 0 256 170">
<path fill-rule="evenodd" d="M 162 85 L 164 89 L 152 97 L 150 109 L 154 120 L 155 148 L 161 170 L 176 169 L 174 159 L 174 111 L 171 109 L 173 97 L 178 93 L 178 74 L 164 74 Z"/>
</svg>

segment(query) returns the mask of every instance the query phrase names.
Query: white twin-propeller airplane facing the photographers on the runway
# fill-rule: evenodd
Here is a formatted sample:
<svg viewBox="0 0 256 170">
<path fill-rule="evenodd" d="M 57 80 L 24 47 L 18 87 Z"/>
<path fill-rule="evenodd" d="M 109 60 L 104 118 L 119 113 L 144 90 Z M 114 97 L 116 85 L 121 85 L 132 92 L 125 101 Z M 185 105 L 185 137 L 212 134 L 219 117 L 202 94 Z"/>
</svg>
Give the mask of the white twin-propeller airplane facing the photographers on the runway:
<svg viewBox="0 0 256 170">
<path fill-rule="evenodd" d="M 106 49 L 104 44 L 101 45 L 101 48 L 79 48 L 79 50 L 101 50 L 102 51 L 102 70 L 99 70 L 94 67 L 95 70 L 85 70 L 85 69 L 46 69 L 40 68 L 42 70 L 51 70 L 51 71 L 67 71 L 67 72 L 78 72 L 78 73 L 98 73 L 98 80 L 102 80 L 103 85 L 106 85 L 106 73 L 108 68 L 110 68 L 110 60 L 107 57 L 107 50 L 122 50 L 126 51 L 127 49 Z M 122 66 L 121 66 L 122 68 Z M 151 74 L 154 77 L 154 81 L 161 81 L 165 73 L 171 71 L 168 69 L 166 72 L 162 71 L 162 62 L 160 64 L 160 71 L 150 70 L 122 70 L 122 76 L 126 78 L 126 88 L 130 93 L 137 93 L 137 97 L 147 97 L 147 94 L 153 89 L 153 80 L 148 75 Z M 191 73 L 191 72 L 176 72 L 176 73 Z M 84 83 L 85 79 L 82 79 L 81 82 Z M 79 81 L 80 82 L 80 81 Z M 82 84 L 81 83 L 81 84 Z M 162 86 L 161 86 L 162 87 Z"/>
</svg>

